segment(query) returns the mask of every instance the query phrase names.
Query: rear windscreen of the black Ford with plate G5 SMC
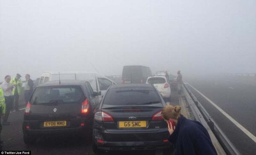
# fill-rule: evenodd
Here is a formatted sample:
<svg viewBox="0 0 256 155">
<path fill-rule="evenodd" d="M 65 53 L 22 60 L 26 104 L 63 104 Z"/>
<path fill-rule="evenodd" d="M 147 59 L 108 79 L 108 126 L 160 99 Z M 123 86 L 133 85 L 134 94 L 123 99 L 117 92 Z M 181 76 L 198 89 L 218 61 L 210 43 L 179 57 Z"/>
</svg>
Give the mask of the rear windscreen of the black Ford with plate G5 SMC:
<svg viewBox="0 0 256 155">
<path fill-rule="evenodd" d="M 153 90 L 109 90 L 103 101 L 104 105 L 150 105 L 160 103 L 160 98 Z"/>
</svg>

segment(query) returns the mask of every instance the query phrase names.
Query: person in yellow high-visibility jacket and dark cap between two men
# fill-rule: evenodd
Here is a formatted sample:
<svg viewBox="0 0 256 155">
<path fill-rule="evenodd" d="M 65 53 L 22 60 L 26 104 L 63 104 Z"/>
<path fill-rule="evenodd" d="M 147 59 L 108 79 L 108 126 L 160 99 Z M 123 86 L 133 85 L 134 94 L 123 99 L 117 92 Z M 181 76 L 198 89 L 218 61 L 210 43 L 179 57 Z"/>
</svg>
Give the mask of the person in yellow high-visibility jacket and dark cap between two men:
<svg viewBox="0 0 256 155">
<path fill-rule="evenodd" d="M 19 97 L 22 86 L 22 81 L 20 79 L 21 75 L 17 74 L 15 78 L 11 80 L 11 84 L 14 84 L 14 88 L 12 89 L 12 95 L 14 95 L 14 108 L 15 111 L 19 111 Z"/>
</svg>

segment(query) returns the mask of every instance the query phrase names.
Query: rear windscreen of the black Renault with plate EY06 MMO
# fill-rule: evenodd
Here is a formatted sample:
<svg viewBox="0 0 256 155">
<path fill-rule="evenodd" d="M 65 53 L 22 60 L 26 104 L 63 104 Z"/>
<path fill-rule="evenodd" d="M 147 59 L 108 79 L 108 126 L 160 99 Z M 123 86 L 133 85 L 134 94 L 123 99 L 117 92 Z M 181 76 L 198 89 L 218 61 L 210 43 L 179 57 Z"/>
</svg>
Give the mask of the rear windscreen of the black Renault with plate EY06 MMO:
<svg viewBox="0 0 256 155">
<path fill-rule="evenodd" d="M 84 100 L 84 95 L 77 86 L 67 87 L 38 87 L 32 95 L 31 104 L 65 104 L 79 103 Z"/>
</svg>

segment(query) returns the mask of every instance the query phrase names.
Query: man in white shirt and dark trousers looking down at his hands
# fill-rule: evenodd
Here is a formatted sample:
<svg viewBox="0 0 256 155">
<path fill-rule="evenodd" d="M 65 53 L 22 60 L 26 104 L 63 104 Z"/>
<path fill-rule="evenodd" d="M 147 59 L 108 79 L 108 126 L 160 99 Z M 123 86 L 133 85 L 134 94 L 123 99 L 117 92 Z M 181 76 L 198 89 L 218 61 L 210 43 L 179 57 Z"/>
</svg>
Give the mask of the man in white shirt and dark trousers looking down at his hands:
<svg viewBox="0 0 256 155">
<path fill-rule="evenodd" d="M 10 122 L 7 122 L 7 120 L 13 105 L 12 89 L 14 87 L 14 84 L 10 84 L 10 81 L 11 81 L 11 76 L 6 75 L 4 78 L 4 82 L 1 85 L 1 88 L 4 92 L 4 99 L 5 99 L 5 105 L 6 105 L 5 116 L 3 118 L 3 125 L 10 125 Z"/>
</svg>

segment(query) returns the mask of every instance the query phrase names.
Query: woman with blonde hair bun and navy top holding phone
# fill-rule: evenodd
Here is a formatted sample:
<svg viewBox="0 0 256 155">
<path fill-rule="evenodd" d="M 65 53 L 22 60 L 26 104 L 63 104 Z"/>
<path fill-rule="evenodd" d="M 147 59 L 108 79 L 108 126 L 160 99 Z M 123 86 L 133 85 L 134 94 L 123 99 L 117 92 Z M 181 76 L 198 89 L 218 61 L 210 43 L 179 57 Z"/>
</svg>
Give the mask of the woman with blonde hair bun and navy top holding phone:
<svg viewBox="0 0 256 155">
<path fill-rule="evenodd" d="M 162 117 L 168 124 L 168 140 L 174 146 L 175 155 L 217 155 L 211 138 L 204 126 L 180 114 L 181 107 L 167 105 L 162 109 Z M 172 126 L 169 121 L 174 122 Z"/>
</svg>

